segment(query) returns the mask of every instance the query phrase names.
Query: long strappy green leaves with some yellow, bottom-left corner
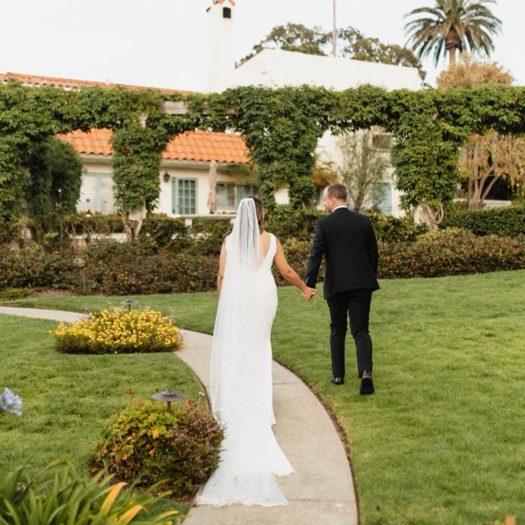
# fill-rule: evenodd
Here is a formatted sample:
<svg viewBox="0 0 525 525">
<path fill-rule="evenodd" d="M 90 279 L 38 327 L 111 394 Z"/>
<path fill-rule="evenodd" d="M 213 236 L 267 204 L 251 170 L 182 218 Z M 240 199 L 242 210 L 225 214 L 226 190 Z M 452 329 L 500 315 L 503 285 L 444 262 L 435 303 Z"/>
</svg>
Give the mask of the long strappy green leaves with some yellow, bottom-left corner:
<svg viewBox="0 0 525 525">
<path fill-rule="evenodd" d="M 63 465 L 61 469 L 59 467 Z M 158 501 L 138 495 L 124 484 L 112 486 L 104 470 L 90 478 L 79 475 L 69 461 L 50 463 L 34 478 L 18 467 L 0 480 L 2 525 L 169 525 L 177 511 L 145 516 L 146 507 Z M 164 494 L 165 495 L 165 494 Z M 163 495 L 163 496 L 164 496 Z"/>
</svg>

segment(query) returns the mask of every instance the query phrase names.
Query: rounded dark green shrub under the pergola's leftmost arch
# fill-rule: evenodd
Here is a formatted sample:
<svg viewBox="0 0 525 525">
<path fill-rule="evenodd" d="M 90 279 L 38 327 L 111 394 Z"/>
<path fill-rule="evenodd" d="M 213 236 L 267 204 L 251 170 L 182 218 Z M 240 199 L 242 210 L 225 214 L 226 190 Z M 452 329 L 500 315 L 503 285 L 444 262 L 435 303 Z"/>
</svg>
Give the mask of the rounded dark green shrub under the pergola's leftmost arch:
<svg viewBox="0 0 525 525">
<path fill-rule="evenodd" d="M 31 153 L 25 199 L 31 216 L 76 213 L 82 160 L 75 148 L 49 137 Z"/>
</svg>

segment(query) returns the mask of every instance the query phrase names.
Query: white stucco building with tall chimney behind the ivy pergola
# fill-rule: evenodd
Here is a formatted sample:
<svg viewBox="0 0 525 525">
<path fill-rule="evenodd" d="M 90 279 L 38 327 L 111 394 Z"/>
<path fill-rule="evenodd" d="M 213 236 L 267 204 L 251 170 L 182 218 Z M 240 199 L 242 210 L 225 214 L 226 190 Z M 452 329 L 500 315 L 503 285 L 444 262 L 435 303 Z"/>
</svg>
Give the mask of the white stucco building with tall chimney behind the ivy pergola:
<svg viewBox="0 0 525 525">
<path fill-rule="evenodd" d="M 377 64 L 342 57 L 307 55 L 282 49 L 264 49 L 240 66 L 235 65 L 235 2 L 214 0 L 207 9 L 209 38 L 209 91 L 220 92 L 237 86 L 323 86 L 341 91 L 363 84 L 387 90 L 421 87 L 417 68 Z M 220 45 L 217 45 L 220 42 Z M 373 130 L 381 134 L 381 130 Z M 337 140 L 326 133 L 319 141 L 319 153 L 338 162 Z M 392 170 L 390 170 L 392 173 Z M 384 198 L 376 203 L 385 213 L 402 215 L 399 193 L 389 182 Z M 278 201 L 286 199 L 286 192 L 276 195 Z"/>
</svg>

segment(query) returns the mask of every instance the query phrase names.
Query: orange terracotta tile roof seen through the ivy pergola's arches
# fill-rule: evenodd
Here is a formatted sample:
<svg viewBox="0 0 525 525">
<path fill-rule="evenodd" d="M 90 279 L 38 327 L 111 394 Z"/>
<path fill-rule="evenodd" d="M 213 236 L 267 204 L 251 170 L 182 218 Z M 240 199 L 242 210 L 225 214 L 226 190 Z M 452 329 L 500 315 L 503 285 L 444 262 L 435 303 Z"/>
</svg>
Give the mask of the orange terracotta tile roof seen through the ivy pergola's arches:
<svg viewBox="0 0 525 525">
<path fill-rule="evenodd" d="M 78 153 L 111 155 L 109 144 L 111 131 L 108 129 L 92 129 L 87 133 L 77 130 L 58 136 L 72 144 Z M 248 149 L 239 135 L 205 131 L 191 131 L 177 135 L 167 143 L 162 158 L 181 161 L 216 160 L 244 164 L 250 162 Z"/>
</svg>

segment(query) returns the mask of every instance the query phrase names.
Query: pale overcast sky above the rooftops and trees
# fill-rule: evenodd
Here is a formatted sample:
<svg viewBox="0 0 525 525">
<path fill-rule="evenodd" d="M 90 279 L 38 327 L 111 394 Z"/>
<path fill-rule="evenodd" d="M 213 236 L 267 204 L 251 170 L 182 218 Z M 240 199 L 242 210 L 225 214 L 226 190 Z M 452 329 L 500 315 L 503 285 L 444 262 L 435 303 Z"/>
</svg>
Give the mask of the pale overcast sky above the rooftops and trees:
<svg viewBox="0 0 525 525">
<path fill-rule="evenodd" d="M 0 0 L 0 72 L 206 91 L 207 18 L 212 0 Z M 434 0 L 337 0 L 337 27 L 384 43 L 406 42 L 403 15 Z M 491 60 L 525 85 L 523 0 L 498 0 L 502 20 Z M 237 0 L 236 60 L 288 22 L 332 27 L 332 0 Z M 220 45 L 220 43 L 217 43 Z M 424 63 L 427 81 L 436 70 Z"/>
</svg>

